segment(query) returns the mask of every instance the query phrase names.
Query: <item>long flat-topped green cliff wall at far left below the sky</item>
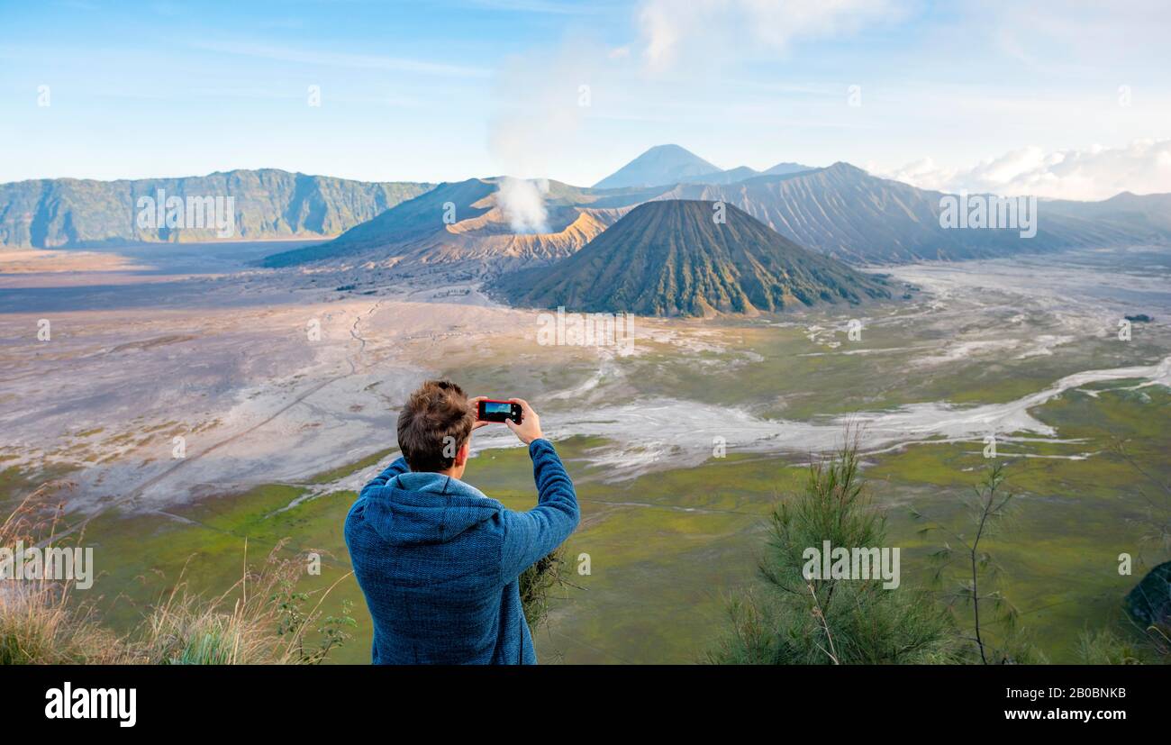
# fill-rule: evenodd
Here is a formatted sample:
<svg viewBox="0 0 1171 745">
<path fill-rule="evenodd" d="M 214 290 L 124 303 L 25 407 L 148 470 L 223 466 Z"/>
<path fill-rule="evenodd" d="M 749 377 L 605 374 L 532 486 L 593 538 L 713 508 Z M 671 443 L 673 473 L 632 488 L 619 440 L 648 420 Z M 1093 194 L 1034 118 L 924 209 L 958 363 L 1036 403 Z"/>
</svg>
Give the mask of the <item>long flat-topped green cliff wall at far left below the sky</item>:
<svg viewBox="0 0 1171 745">
<path fill-rule="evenodd" d="M 233 197 L 235 240 L 336 235 L 431 184 L 355 182 L 276 169 L 100 182 L 37 179 L 0 184 L 0 246 L 83 248 L 125 242 L 215 240 L 215 228 L 139 227 L 138 199 Z"/>
</svg>

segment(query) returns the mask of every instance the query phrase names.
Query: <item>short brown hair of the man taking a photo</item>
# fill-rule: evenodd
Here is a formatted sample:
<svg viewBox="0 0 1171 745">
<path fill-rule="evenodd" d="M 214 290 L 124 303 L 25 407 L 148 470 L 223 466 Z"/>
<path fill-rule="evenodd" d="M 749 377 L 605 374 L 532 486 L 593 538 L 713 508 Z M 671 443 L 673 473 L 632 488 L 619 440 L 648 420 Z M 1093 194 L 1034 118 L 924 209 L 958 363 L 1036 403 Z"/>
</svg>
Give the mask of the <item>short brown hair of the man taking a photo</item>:
<svg viewBox="0 0 1171 745">
<path fill-rule="evenodd" d="M 475 412 L 451 381 L 427 381 L 398 415 L 398 449 L 411 471 L 446 471 L 472 435 Z"/>
</svg>

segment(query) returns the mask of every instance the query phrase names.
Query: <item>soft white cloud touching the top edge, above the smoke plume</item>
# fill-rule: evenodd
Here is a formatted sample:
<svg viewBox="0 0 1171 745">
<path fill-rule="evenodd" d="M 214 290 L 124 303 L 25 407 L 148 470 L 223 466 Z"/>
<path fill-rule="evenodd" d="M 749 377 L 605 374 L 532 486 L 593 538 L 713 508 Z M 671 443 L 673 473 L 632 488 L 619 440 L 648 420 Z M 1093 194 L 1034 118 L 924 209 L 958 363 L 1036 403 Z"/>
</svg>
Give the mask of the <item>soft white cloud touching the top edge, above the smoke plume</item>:
<svg viewBox="0 0 1171 745">
<path fill-rule="evenodd" d="M 852 33 L 900 15 L 899 0 L 645 0 L 638 11 L 651 71 L 732 53 L 783 50 L 795 39 Z"/>
</svg>

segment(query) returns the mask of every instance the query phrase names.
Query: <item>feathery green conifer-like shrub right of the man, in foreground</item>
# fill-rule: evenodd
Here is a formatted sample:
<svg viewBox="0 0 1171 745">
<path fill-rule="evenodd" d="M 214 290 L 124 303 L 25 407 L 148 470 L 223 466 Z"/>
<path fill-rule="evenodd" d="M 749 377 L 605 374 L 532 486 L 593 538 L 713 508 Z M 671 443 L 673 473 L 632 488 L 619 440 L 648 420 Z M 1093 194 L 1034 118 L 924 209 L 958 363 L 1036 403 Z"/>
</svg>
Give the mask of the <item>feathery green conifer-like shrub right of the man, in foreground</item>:
<svg viewBox="0 0 1171 745">
<path fill-rule="evenodd" d="M 809 466 L 803 488 L 772 513 L 760 574 L 765 587 L 728 602 L 731 630 L 708 659 L 720 664 L 915 664 L 964 659 L 950 616 L 916 588 L 881 579 L 810 579 L 807 548 L 886 546 L 870 504 L 857 439 Z"/>
</svg>

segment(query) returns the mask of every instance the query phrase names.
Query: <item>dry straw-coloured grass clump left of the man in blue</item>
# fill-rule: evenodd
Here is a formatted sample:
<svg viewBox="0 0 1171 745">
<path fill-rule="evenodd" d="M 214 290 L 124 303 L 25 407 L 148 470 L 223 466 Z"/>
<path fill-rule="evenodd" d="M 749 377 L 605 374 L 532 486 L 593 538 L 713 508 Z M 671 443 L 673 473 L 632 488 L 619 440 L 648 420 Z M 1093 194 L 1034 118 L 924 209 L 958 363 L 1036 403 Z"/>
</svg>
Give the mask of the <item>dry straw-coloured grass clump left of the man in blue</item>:
<svg viewBox="0 0 1171 745">
<path fill-rule="evenodd" d="M 52 542 L 62 514 L 57 497 L 70 488 L 69 483 L 55 481 L 29 494 L 0 524 L 0 546 Z M 93 606 L 73 597 L 71 580 L 5 581 L 0 583 L 0 664 L 320 663 L 345 642 L 345 629 L 354 626 L 348 613 L 322 617 L 320 611 L 341 580 L 316 599 L 296 592 L 306 565 L 300 556 L 282 556 L 282 548 L 283 544 L 275 546 L 260 570 L 253 572 L 245 546 L 240 580 L 214 597 L 193 594 L 180 577 L 126 636 L 103 628 Z"/>
</svg>

